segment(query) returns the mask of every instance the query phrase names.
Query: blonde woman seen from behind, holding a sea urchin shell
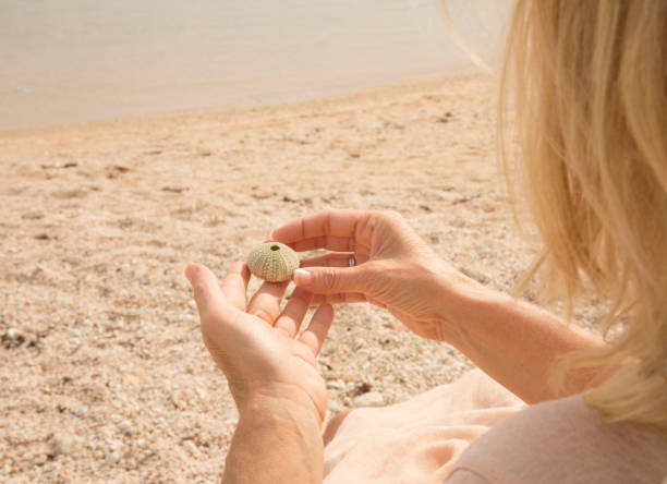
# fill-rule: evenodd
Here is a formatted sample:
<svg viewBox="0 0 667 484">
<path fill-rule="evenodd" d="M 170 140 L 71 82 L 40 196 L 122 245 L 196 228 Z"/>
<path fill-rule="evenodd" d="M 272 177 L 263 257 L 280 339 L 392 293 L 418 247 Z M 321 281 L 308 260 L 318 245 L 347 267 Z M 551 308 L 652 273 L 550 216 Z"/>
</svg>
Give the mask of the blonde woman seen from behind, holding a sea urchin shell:
<svg viewBox="0 0 667 484">
<path fill-rule="evenodd" d="M 410 474 L 420 476 L 414 479 L 480 484 L 664 479 L 665 39 L 665 0 L 514 5 L 504 84 L 513 83 L 520 93 L 519 173 L 544 241 L 535 267 L 551 269 L 551 287 L 565 289 L 567 301 L 584 280 L 608 298 L 608 324 L 621 328 L 609 341 L 466 278 L 395 214 L 327 211 L 275 230 L 275 240 L 299 251 L 335 252 L 296 271 L 298 289 L 280 314 L 286 285 L 264 285 L 246 306 L 250 274 L 242 263 L 221 285 L 203 266 L 186 268 L 204 341 L 240 413 L 223 482 L 322 482 L 326 386 L 315 356 L 332 320 L 330 304 L 361 301 L 386 307 L 420 336 L 460 349 L 529 404 L 462 455 L 454 452 L 456 459 L 434 465 L 432 460 L 445 457 L 426 451 L 426 459 L 407 463 L 417 471 L 447 469 L 447 475 L 417 472 Z M 294 339 L 311 304 L 319 308 Z M 550 385 L 556 362 L 562 368 L 559 386 Z M 499 400 L 510 401 L 508 395 Z M 412 410 L 425 400 L 415 401 Z M 352 438 L 348 429 L 356 412 L 327 428 L 327 451 L 345 433 Z M 325 482 L 364 481 L 353 467 L 338 472 L 345 459 L 331 461 L 330 452 L 327 459 Z M 361 468 L 372 462 L 359 465 L 362 475 Z M 410 479 L 395 474 L 392 481 L 417 482 Z"/>
</svg>

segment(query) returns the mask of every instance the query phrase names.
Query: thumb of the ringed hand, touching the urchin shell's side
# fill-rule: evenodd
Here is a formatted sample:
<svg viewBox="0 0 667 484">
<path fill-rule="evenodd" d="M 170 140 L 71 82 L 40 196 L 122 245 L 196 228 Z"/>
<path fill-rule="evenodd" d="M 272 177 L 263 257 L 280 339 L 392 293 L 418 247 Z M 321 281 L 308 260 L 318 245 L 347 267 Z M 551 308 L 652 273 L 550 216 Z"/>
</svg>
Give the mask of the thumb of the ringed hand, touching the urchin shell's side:
<svg viewBox="0 0 667 484">
<path fill-rule="evenodd" d="M 294 283 L 315 294 L 366 292 L 363 267 L 308 267 L 294 270 Z"/>
</svg>

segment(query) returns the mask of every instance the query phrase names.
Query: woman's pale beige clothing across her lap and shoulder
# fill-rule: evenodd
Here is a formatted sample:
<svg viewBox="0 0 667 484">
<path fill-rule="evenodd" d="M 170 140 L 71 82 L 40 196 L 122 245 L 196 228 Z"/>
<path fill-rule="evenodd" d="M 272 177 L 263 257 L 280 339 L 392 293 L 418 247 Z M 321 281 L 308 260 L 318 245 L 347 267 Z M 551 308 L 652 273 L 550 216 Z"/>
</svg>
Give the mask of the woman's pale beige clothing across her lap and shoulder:
<svg viewBox="0 0 667 484">
<path fill-rule="evenodd" d="M 478 370 L 331 433 L 325 484 L 667 484 L 667 440 L 581 396 L 526 407 Z"/>
</svg>

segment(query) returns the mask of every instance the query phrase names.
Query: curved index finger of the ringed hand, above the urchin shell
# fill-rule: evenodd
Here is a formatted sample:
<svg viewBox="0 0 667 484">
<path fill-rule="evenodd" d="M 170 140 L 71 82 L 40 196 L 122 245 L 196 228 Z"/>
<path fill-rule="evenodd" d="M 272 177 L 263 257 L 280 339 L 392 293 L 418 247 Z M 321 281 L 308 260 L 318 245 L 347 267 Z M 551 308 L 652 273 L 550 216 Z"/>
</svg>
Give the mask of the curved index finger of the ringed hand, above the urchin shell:
<svg viewBox="0 0 667 484">
<path fill-rule="evenodd" d="M 324 210 L 307 215 L 286 223 L 271 232 L 271 238 L 284 244 L 294 244 L 311 239 L 320 238 L 323 246 L 327 241 L 336 240 L 337 247 L 340 239 L 359 240 L 362 226 L 368 219 L 368 213 L 363 210 Z"/>
</svg>

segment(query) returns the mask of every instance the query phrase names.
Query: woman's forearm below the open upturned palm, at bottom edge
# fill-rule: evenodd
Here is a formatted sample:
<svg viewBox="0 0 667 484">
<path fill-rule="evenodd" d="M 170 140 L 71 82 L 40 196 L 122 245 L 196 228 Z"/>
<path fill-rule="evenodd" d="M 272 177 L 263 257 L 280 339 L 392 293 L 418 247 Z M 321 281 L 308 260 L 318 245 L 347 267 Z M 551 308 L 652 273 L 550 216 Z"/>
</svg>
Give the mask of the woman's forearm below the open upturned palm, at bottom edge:
<svg viewBox="0 0 667 484">
<path fill-rule="evenodd" d="M 320 423 L 294 402 L 256 401 L 241 410 L 222 484 L 322 483 Z"/>
</svg>

